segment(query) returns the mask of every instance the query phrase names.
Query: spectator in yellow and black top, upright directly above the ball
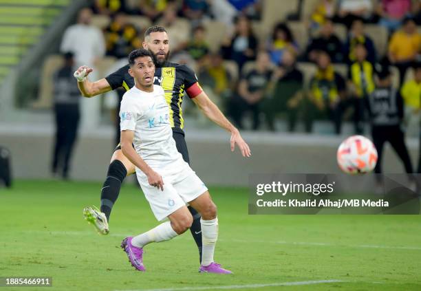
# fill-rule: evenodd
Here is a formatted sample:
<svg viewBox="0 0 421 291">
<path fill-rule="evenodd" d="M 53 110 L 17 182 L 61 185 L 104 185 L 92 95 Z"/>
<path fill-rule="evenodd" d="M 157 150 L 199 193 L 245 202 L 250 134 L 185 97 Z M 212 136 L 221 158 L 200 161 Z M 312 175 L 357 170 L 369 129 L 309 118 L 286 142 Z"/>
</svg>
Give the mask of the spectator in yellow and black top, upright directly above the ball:
<svg viewBox="0 0 421 291">
<path fill-rule="evenodd" d="M 354 105 L 354 125 L 357 134 L 364 130 L 365 102 L 376 85 L 374 84 L 374 66 L 367 61 L 367 50 L 362 43 L 355 46 L 356 61 L 349 66 L 349 88 Z"/>
</svg>

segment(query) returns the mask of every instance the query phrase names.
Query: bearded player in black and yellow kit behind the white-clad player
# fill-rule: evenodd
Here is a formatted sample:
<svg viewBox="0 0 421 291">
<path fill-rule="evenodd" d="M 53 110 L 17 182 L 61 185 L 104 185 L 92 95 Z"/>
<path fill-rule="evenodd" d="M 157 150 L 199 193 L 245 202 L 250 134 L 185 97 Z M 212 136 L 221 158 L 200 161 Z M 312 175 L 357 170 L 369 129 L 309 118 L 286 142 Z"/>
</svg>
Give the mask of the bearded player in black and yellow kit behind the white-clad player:
<svg viewBox="0 0 421 291">
<path fill-rule="evenodd" d="M 244 157 L 250 157 L 250 148 L 244 142 L 241 135 L 218 107 L 208 98 L 202 90 L 195 73 L 186 65 L 178 65 L 169 63 L 169 37 L 165 28 L 161 26 L 152 26 L 148 28 L 144 34 L 143 48 L 149 50 L 155 57 L 155 85 L 160 85 L 164 89 L 166 102 L 170 107 L 170 124 L 173 129 L 173 138 L 177 144 L 177 150 L 183 156 L 186 162 L 189 162 L 186 141 L 184 140 L 184 119 L 182 116 L 182 98 L 184 91 L 193 102 L 201 109 L 201 111 L 213 122 L 231 133 L 230 148 L 234 151 L 235 144 L 239 147 Z M 80 92 L 85 97 L 93 97 L 107 91 L 123 87 L 129 90 L 134 85 L 134 79 L 129 75 L 129 65 L 118 69 L 118 71 L 109 76 L 90 82 L 86 76 L 92 72 L 87 66 L 79 67 L 74 73 L 78 80 Z M 107 178 L 101 190 L 101 206 L 100 211 L 93 207 L 87 207 L 83 213 L 85 219 L 97 228 L 102 235 L 109 232 L 108 221 L 111 209 L 114 206 L 120 193 L 122 181 L 127 175 L 135 172 L 135 167 L 123 155 L 120 144 L 116 147 L 109 164 Z M 200 215 L 193 208 L 189 207 L 193 215 L 193 224 L 191 226 L 191 234 L 195 239 L 199 248 L 199 255 L 202 257 L 202 230 L 200 226 Z"/>
</svg>

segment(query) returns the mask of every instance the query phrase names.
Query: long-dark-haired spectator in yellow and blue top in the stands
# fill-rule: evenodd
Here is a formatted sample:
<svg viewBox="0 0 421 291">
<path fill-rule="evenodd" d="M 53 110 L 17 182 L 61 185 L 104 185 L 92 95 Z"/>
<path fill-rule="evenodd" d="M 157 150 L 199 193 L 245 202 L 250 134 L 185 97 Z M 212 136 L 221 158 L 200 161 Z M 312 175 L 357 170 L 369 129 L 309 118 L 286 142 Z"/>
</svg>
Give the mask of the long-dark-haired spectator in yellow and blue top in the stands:
<svg viewBox="0 0 421 291">
<path fill-rule="evenodd" d="M 298 54 L 298 45 L 294 41 L 292 32 L 285 23 L 275 25 L 268 43 L 268 50 L 272 63 L 279 64 L 286 50 Z"/>
</svg>

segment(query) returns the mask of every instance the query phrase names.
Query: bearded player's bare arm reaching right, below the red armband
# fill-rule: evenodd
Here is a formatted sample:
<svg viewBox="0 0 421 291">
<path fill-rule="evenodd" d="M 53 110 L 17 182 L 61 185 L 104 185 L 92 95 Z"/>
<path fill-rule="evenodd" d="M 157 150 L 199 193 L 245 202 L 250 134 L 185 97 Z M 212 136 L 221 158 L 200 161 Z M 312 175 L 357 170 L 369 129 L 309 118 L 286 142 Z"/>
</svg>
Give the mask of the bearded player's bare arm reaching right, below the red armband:
<svg viewBox="0 0 421 291">
<path fill-rule="evenodd" d="M 243 140 L 243 138 L 241 138 L 241 134 L 238 129 L 228 121 L 221 110 L 219 110 L 217 105 L 209 99 L 208 95 L 206 95 L 204 91 L 195 96 L 192 100 L 207 118 L 231 133 L 231 151 L 234 151 L 235 144 L 237 144 L 241 155 L 244 157 L 250 157 L 250 147 L 248 147 L 248 144 Z"/>
</svg>

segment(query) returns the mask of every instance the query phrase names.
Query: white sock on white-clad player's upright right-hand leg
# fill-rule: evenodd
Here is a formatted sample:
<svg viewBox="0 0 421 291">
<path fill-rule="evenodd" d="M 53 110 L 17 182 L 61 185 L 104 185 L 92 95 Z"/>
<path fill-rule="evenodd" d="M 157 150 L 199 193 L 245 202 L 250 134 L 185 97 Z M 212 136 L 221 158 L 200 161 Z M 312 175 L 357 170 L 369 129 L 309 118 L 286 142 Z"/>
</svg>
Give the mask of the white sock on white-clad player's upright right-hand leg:
<svg viewBox="0 0 421 291">
<path fill-rule="evenodd" d="M 202 226 L 202 266 L 213 263 L 213 253 L 218 239 L 218 217 L 212 220 L 200 219 Z"/>
</svg>

